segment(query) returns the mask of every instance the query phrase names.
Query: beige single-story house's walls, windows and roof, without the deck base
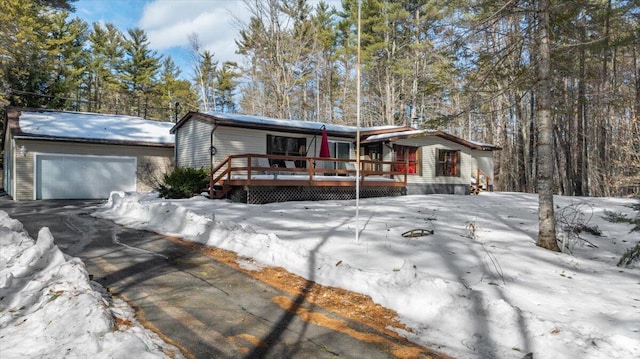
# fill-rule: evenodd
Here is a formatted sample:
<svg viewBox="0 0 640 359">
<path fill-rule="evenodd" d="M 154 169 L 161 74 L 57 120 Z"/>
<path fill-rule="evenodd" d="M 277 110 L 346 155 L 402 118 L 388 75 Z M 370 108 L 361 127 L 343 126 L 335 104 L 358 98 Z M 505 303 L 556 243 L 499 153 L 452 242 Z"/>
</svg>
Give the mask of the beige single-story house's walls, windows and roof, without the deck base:
<svg viewBox="0 0 640 359">
<path fill-rule="evenodd" d="M 323 130 L 334 161 L 319 161 Z M 228 169 L 216 177 L 222 182 L 227 178 L 227 183 L 231 183 L 234 171 L 246 173 L 251 166 L 257 166 L 255 163 L 244 167 L 232 165 L 229 159 L 240 155 L 252 154 L 248 158 L 253 160 L 258 155 L 268 155 L 266 166 L 285 167 L 295 163 L 297 168 L 287 168 L 287 171 L 296 171 L 293 174 L 305 174 L 302 168 L 310 166 L 305 159 L 315 158 L 314 171 L 320 166 L 332 169 L 334 176 L 349 176 L 352 172 L 348 171 L 348 160 L 356 159 L 359 152 L 365 161 L 360 162 L 362 171 L 385 174 L 396 182 L 404 181 L 403 194 L 469 194 L 472 184 L 478 180 L 483 182 L 484 189 L 491 189 L 493 151 L 499 149 L 443 131 L 416 130 L 408 126 L 358 129 L 219 112 L 189 112 L 175 124 L 171 133 L 176 136 L 176 167 L 212 168 L 215 172 L 228 162 Z M 356 149 L 358 136 L 359 151 Z M 398 175 L 403 172 L 404 178 Z M 277 186 L 275 181 L 266 184 Z"/>
</svg>

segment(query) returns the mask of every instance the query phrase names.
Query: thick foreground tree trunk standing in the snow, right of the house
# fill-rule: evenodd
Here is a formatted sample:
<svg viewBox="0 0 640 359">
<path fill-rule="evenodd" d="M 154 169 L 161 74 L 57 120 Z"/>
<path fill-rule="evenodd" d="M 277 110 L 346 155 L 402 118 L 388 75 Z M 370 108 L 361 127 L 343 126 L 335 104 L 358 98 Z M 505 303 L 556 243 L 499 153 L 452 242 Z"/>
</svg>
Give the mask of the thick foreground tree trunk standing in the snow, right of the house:
<svg viewBox="0 0 640 359">
<path fill-rule="evenodd" d="M 551 49 L 549 46 L 550 0 L 539 2 L 538 31 L 538 242 L 536 245 L 559 252 L 553 213 L 553 121 L 551 118 Z"/>
</svg>

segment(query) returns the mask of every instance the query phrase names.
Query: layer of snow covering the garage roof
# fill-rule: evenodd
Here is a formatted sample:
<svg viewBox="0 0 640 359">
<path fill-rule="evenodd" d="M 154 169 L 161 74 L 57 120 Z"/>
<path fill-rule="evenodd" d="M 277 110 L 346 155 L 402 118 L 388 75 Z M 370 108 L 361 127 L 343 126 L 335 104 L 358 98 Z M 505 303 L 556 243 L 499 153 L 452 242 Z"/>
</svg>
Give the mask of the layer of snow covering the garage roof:
<svg viewBox="0 0 640 359">
<path fill-rule="evenodd" d="M 29 112 L 20 115 L 20 130 L 31 136 L 174 144 L 171 122 L 85 112 Z"/>
</svg>

